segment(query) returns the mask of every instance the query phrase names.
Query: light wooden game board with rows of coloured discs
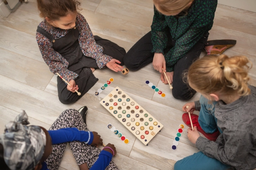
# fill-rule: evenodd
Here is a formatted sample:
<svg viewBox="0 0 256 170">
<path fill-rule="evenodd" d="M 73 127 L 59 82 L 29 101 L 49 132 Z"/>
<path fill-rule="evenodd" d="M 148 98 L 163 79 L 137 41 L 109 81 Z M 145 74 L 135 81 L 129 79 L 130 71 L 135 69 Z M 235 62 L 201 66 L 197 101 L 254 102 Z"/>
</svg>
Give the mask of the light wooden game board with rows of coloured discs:
<svg viewBox="0 0 256 170">
<path fill-rule="evenodd" d="M 100 104 L 145 145 L 163 128 L 163 124 L 119 87 L 112 90 Z"/>
</svg>

